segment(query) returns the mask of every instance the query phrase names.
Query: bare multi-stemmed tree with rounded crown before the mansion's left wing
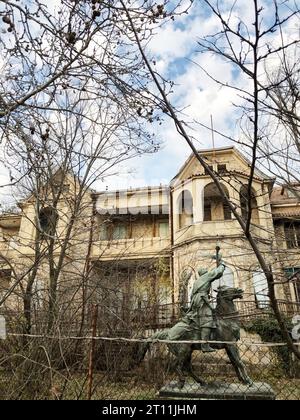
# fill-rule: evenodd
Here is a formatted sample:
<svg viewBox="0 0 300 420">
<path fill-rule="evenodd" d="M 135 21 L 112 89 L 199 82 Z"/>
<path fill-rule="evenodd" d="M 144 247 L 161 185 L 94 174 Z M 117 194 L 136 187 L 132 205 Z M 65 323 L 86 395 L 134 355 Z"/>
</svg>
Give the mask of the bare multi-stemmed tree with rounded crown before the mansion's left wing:
<svg viewBox="0 0 300 420">
<path fill-rule="evenodd" d="M 89 258 L 85 253 L 90 252 L 87 244 L 91 240 L 94 212 L 93 184 L 115 174 L 120 163 L 154 151 L 152 137 L 136 127 L 135 117 L 131 122 L 130 115 L 121 107 L 116 106 L 114 111 L 109 101 L 103 99 L 100 109 L 86 106 L 82 110 L 87 118 L 72 113 L 71 108 L 65 115 L 52 113 L 49 119 L 42 115 L 35 120 L 34 130 L 24 132 L 22 126 L 17 126 L 14 137 L 6 142 L 6 162 L 14 168 L 11 169 L 14 178 L 22 180 L 18 183 L 25 200 L 21 204 L 22 217 L 27 220 L 31 238 L 19 238 L 19 264 L 24 263 L 24 269 L 16 273 L 14 286 L 1 303 L 17 286 L 21 287 L 27 333 L 31 330 L 32 298 L 38 277 L 49 281 L 46 289 L 51 329 L 56 319 L 62 273 L 66 276 L 69 271 L 73 276 L 74 293 L 87 275 L 85 261 Z M 96 123 L 89 121 L 90 113 Z M 28 247 L 27 251 L 22 246 Z M 14 269 L 18 264 L 14 260 L 6 263 Z M 68 283 L 71 284 L 71 279 Z"/>
</svg>

